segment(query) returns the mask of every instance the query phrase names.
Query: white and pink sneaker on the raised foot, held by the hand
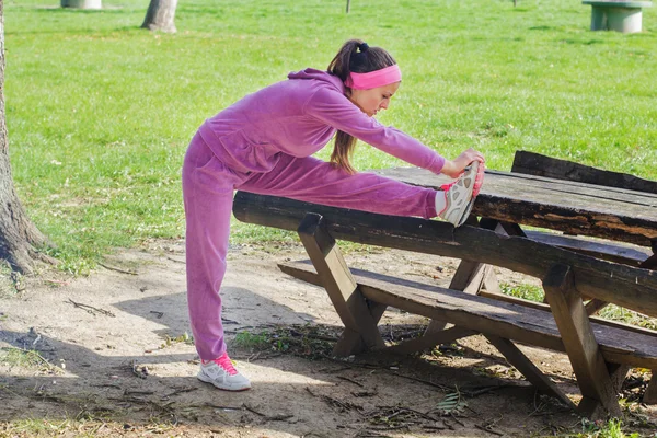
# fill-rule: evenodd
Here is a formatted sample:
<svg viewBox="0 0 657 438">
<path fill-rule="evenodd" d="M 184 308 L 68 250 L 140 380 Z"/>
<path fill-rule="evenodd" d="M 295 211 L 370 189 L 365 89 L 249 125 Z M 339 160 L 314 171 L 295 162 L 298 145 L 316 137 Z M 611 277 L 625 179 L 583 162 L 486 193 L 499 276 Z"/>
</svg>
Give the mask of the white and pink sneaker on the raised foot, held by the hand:
<svg viewBox="0 0 657 438">
<path fill-rule="evenodd" d="M 470 216 L 483 178 L 484 163 L 473 161 L 457 181 L 441 186 L 446 207 L 438 216 L 454 227 L 461 227 Z M 440 195 L 440 192 L 436 194 L 436 196 Z"/>
</svg>

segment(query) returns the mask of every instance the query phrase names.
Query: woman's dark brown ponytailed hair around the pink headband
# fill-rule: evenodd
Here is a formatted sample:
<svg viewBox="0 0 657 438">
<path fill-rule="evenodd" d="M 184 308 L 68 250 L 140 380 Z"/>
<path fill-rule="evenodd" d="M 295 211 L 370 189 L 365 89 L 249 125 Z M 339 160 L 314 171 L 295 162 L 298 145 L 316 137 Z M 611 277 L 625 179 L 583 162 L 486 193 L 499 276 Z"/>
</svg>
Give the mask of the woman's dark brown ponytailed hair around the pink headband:
<svg viewBox="0 0 657 438">
<path fill-rule="evenodd" d="M 344 82 L 351 71 L 355 73 L 368 73 L 394 66 L 395 64 L 394 58 L 381 47 L 369 47 L 367 43 L 360 39 L 349 39 L 342 46 L 328 65 L 328 72 L 338 77 Z M 346 93 L 350 95 L 351 89 L 346 87 Z M 354 153 L 355 146 L 356 138 L 338 130 L 335 136 L 335 147 L 333 148 L 333 153 L 331 153 L 331 162 L 351 174 L 356 173 L 356 170 L 349 163 L 349 158 Z"/>
</svg>

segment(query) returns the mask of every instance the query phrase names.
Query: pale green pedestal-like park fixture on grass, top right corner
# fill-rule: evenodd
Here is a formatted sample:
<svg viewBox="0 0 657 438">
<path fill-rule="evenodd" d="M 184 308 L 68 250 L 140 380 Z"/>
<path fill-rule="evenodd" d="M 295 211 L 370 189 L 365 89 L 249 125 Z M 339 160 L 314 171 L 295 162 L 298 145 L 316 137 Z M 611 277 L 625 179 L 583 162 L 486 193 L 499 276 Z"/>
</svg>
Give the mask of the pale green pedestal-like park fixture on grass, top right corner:
<svg viewBox="0 0 657 438">
<path fill-rule="evenodd" d="M 591 5 L 591 31 L 641 32 L 643 8 L 653 5 L 650 1 L 584 0 Z"/>
</svg>

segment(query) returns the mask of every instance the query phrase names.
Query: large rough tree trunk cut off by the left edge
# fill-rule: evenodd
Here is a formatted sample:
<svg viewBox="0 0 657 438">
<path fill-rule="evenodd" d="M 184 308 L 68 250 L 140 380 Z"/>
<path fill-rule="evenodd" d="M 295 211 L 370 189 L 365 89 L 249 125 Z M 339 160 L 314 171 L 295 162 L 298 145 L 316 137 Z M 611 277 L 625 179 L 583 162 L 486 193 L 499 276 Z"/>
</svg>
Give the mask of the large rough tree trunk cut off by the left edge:
<svg viewBox="0 0 657 438">
<path fill-rule="evenodd" d="M 0 0 L 0 258 L 23 274 L 33 272 L 39 255 L 36 247 L 47 239 L 30 221 L 14 189 L 9 163 L 9 145 L 4 118 L 4 4 Z"/>
</svg>

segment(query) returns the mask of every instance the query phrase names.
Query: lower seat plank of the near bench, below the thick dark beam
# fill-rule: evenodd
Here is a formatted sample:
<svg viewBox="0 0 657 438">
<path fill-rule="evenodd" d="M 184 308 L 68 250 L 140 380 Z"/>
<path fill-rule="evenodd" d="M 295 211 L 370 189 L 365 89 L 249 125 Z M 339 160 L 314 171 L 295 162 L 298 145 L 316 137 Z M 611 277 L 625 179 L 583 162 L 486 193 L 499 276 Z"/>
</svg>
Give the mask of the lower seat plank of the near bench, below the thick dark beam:
<svg viewBox="0 0 657 438">
<path fill-rule="evenodd" d="M 308 264 L 281 264 L 281 269 L 297 278 L 308 278 L 318 285 L 313 267 Z M 300 274 L 300 272 L 303 272 Z M 481 333 L 489 333 L 517 342 L 556 351 L 565 351 L 561 334 L 550 312 L 507 303 L 482 296 L 395 278 L 394 281 L 377 279 L 378 275 L 353 269 L 362 295 L 415 314 L 448 321 L 454 325 Z M 385 276 L 384 276 L 385 277 Z M 391 277 L 385 277 L 391 278 Z M 609 327 L 593 322 L 593 333 L 600 344 L 604 360 L 648 369 L 657 368 L 655 336 Z"/>
</svg>

